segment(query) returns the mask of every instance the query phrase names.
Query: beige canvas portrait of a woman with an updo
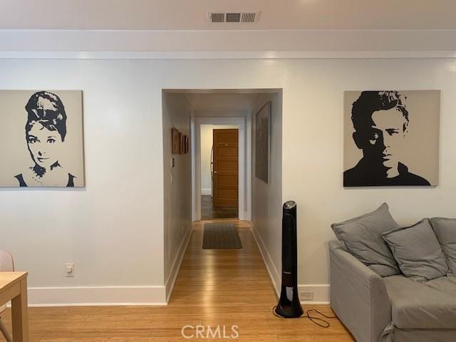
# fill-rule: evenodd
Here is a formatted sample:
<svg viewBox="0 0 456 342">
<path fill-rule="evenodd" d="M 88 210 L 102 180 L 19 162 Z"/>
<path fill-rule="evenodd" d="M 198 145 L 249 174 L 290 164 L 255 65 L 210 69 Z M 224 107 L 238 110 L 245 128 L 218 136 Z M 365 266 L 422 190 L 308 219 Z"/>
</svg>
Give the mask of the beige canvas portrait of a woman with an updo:
<svg viewBox="0 0 456 342">
<path fill-rule="evenodd" d="M 0 90 L 1 187 L 83 187 L 82 92 Z"/>
</svg>

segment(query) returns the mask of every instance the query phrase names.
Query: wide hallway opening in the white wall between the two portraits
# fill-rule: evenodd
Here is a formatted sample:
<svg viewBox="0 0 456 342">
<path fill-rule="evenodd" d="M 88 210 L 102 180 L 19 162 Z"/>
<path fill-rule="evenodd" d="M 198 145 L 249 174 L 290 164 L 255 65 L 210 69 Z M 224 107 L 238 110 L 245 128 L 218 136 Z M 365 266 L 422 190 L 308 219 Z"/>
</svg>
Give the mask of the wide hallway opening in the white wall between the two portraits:
<svg viewBox="0 0 456 342">
<path fill-rule="evenodd" d="M 204 272 L 217 269 L 217 274 L 231 279 L 236 274 L 239 276 L 239 270 L 249 276 L 255 272 L 250 261 L 244 262 L 252 257 L 252 250 L 257 251 L 256 255 L 280 254 L 281 116 L 281 89 L 163 90 L 166 278 L 177 274 L 173 270 L 177 272 L 178 266 L 174 265 L 178 263 L 172 261 L 177 257 L 182 258 L 183 263 L 198 264 Z M 179 144 L 173 153 L 172 133 L 176 133 L 175 130 L 190 138 L 190 153 L 177 152 Z M 218 132 L 231 135 L 219 141 Z M 217 135 L 215 139 L 214 134 Z M 237 154 L 233 154 L 229 149 L 235 148 L 236 136 Z M 182 142 L 181 139 L 176 141 Z M 222 161 L 229 165 L 224 165 L 224 169 L 213 166 L 211 172 L 211 150 L 217 145 L 222 147 L 222 156 L 227 157 Z M 204 148 L 209 151 L 206 157 Z M 213 163 L 220 162 L 214 152 L 212 155 Z M 206 164 L 203 159 L 207 160 Z M 237 174 L 233 172 L 236 168 Z M 222 192 L 228 190 L 222 196 L 214 193 L 218 191 L 213 181 L 214 171 L 232 172 L 225 174 L 231 180 L 222 180 L 220 184 Z M 236 179 L 237 190 L 233 186 Z M 237 208 L 233 203 L 221 207 L 234 205 L 237 218 L 220 221 L 206 218 L 204 196 L 212 196 L 209 201 L 214 206 L 214 197 L 216 200 L 230 199 L 236 192 Z M 233 231 L 239 235 L 239 244 L 234 241 Z M 191 249 L 184 254 L 187 244 Z M 175 255 L 177 257 L 173 257 Z M 214 260 L 229 262 L 232 267 L 220 268 L 220 263 L 212 262 Z M 264 261 L 274 287 L 279 289 L 276 261 L 271 257 Z M 255 281 L 257 279 L 252 279 L 253 283 Z M 219 290 L 212 285 L 204 283 L 201 289 L 209 286 Z M 182 286 L 187 286 L 185 281 Z"/>
</svg>

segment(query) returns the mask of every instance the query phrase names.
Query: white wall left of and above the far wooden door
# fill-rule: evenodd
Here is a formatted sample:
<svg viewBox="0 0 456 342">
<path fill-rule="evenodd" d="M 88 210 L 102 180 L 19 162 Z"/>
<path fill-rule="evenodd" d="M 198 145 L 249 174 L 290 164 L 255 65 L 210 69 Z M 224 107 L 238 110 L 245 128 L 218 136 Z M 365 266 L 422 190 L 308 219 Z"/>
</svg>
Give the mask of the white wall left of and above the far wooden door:
<svg viewBox="0 0 456 342">
<path fill-rule="evenodd" d="M 237 128 L 236 125 L 201 125 L 201 195 L 212 195 L 212 130 Z"/>
</svg>

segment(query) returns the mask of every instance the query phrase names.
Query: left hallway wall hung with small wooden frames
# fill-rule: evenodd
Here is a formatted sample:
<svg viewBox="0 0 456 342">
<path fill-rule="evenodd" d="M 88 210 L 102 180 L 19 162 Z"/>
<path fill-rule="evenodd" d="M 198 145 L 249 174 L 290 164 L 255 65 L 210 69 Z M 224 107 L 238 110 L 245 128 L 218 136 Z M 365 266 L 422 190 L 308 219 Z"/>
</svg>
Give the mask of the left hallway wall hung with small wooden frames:
<svg viewBox="0 0 456 342">
<path fill-rule="evenodd" d="M 168 298 L 192 228 L 191 155 L 171 154 L 171 129 L 177 128 L 182 135 L 190 137 L 191 115 L 192 107 L 185 95 L 163 93 L 165 286 Z"/>
</svg>

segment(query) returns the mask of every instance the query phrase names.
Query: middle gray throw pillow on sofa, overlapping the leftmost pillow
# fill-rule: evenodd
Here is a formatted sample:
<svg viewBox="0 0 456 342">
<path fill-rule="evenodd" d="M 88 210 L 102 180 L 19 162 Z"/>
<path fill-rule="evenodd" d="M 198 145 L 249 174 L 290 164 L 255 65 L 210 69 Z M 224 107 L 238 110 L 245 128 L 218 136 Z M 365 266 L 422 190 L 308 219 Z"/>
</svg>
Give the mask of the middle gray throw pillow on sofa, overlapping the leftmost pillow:
<svg viewBox="0 0 456 342">
<path fill-rule="evenodd" d="M 447 275 L 447 261 L 429 219 L 386 232 L 382 236 L 398 261 L 400 271 L 408 278 L 427 281 Z"/>
</svg>

